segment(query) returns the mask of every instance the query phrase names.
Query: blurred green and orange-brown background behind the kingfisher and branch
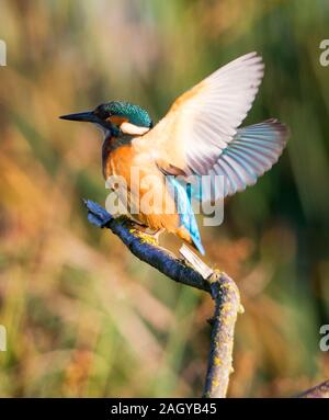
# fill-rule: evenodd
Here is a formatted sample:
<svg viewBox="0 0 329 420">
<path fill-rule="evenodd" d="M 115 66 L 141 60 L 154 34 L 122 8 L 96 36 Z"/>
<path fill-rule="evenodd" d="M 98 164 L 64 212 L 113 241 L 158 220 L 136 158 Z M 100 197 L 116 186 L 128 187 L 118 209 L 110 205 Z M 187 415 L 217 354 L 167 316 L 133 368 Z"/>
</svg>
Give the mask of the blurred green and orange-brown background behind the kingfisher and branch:
<svg viewBox="0 0 329 420">
<path fill-rule="evenodd" d="M 198 396 L 213 304 L 90 226 L 104 203 L 100 134 L 58 115 L 128 100 L 157 121 L 251 50 L 265 77 L 247 123 L 279 117 L 287 149 L 202 228 L 238 283 L 229 396 L 288 396 L 329 376 L 327 0 L 3 1 L 0 38 L 1 396 Z M 166 246 L 177 249 L 168 237 Z"/>
</svg>

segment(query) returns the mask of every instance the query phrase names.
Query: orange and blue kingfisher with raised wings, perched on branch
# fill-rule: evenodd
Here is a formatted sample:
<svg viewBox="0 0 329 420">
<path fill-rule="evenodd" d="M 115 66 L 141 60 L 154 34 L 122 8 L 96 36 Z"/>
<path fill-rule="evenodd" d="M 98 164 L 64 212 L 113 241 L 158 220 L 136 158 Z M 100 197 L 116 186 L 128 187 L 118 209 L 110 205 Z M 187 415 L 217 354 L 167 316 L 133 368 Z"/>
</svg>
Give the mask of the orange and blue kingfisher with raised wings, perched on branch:
<svg viewBox="0 0 329 420">
<path fill-rule="evenodd" d="M 181 94 L 156 125 L 146 110 L 124 101 L 110 101 L 93 111 L 60 118 L 101 128 L 103 175 L 105 180 L 116 175 L 126 181 L 128 209 L 150 189 L 143 182 L 136 185 L 132 168 L 138 169 L 140 179 L 156 179 L 159 188 L 154 202 L 158 204 L 154 211 L 128 211 L 140 231 L 148 228 L 155 235 L 174 234 L 204 254 L 192 200 L 224 198 L 253 185 L 286 145 L 288 129 L 275 118 L 240 127 L 263 70 L 262 58 L 254 52 L 230 61 Z M 186 181 L 184 185 L 184 180 L 191 175 L 207 175 L 209 186 L 201 191 L 186 188 L 191 184 Z M 218 175 L 225 180 L 220 191 Z M 116 193 L 120 196 L 120 191 Z M 172 204 L 171 213 L 163 211 L 164 202 Z"/>
</svg>

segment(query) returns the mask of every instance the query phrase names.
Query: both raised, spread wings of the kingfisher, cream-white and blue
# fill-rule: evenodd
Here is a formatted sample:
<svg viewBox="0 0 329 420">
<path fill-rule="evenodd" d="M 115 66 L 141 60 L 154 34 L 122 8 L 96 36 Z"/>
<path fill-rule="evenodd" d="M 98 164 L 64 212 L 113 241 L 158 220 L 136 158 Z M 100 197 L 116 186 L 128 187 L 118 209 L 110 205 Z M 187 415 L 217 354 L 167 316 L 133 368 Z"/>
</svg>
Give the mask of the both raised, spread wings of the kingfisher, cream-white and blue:
<svg viewBox="0 0 329 420">
<path fill-rule="evenodd" d="M 222 67 L 179 97 L 150 132 L 134 140 L 135 146 L 151 148 L 167 173 L 225 175 L 223 195 L 254 183 L 277 160 L 286 138 L 285 127 L 274 121 L 248 132 L 238 129 L 251 107 L 263 68 L 257 53 Z"/>
</svg>

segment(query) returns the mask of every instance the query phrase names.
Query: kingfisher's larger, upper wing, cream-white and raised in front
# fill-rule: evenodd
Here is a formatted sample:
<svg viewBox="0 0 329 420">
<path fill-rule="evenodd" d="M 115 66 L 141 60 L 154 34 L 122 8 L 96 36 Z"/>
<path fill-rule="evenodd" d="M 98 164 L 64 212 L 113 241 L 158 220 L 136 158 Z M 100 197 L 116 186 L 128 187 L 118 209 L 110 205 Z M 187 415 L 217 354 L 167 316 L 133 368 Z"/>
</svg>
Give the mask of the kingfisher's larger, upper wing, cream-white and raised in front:
<svg viewBox="0 0 329 420">
<path fill-rule="evenodd" d="M 135 146 L 151 147 L 160 166 L 168 163 L 186 175 L 207 174 L 246 117 L 263 67 L 257 53 L 222 67 L 179 97 L 150 132 L 134 140 Z"/>
</svg>

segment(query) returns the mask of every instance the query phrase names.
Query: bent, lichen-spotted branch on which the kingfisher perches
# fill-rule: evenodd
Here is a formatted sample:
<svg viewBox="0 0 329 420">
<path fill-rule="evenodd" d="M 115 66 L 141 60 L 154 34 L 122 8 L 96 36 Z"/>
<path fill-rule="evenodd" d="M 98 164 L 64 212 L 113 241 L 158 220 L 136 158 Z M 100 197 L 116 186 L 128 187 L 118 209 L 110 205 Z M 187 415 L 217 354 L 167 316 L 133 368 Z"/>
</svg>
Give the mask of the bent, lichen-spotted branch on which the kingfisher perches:
<svg viewBox="0 0 329 420">
<path fill-rule="evenodd" d="M 97 203 L 89 200 L 83 202 L 88 208 L 88 220 L 98 227 L 112 230 L 139 260 L 178 283 L 212 295 L 215 300 L 215 314 L 212 319 L 212 341 L 204 397 L 224 398 L 229 375 L 232 372 L 234 331 L 237 314 L 241 307 L 239 291 L 234 281 L 225 273 L 213 271 L 209 268 L 207 269 L 211 275 L 204 279 L 196 269 L 205 264 L 195 254 L 186 263 L 168 250 L 151 243 L 145 235 L 140 235 L 132 228 L 129 222 L 115 219 Z M 189 252 L 184 252 L 185 258 L 186 256 Z"/>
</svg>

